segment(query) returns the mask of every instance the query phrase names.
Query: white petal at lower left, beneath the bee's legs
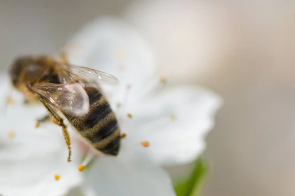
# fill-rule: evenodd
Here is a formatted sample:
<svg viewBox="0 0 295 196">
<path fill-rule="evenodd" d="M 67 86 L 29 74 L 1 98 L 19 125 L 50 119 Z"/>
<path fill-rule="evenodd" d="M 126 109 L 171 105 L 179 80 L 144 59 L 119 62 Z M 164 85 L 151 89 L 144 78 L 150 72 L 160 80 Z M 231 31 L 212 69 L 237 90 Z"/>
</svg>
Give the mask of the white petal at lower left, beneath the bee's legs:
<svg viewBox="0 0 295 196">
<path fill-rule="evenodd" d="M 0 194 L 60 196 L 82 182 L 77 166 L 66 160 L 61 128 L 53 123 L 35 128 L 36 119 L 46 114 L 42 106 L 22 102 L 0 114 Z M 14 137 L 9 137 L 8 131 L 13 131 Z M 59 181 L 55 174 L 60 175 Z"/>
</svg>

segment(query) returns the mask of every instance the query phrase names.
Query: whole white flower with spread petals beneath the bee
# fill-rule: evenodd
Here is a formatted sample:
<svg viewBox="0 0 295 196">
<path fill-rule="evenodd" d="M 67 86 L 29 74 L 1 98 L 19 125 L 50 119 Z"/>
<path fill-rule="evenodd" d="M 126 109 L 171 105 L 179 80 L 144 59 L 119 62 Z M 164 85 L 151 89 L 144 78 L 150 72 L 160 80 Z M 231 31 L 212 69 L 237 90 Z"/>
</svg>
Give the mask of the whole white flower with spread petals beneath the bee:
<svg viewBox="0 0 295 196">
<path fill-rule="evenodd" d="M 0 115 L 0 194 L 59 196 L 80 186 L 89 196 L 175 195 L 159 165 L 187 163 L 202 153 L 220 98 L 200 88 L 166 87 L 147 44 L 130 26 L 113 19 L 86 26 L 66 53 L 75 65 L 118 77 L 118 86 L 104 90 L 126 134 L 119 154 L 99 155 L 89 170 L 78 173 L 79 143 L 72 140 L 73 162 L 67 163 L 61 128 L 53 123 L 34 128 L 45 109 L 16 103 Z M 6 135 L 9 130 L 14 137 Z"/>
</svg>

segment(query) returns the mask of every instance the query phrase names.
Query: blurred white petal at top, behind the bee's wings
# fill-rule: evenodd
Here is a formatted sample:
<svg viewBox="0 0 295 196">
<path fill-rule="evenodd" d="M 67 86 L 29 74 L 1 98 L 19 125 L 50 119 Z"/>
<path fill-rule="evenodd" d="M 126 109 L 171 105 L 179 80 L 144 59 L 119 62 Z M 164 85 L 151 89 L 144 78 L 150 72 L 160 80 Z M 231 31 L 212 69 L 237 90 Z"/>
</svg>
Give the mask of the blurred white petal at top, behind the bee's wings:
<svg viewBox="0 0 295 196">
<path fill-rule="evenodd" d="M 89 23 L 65 49 L 72 64 L 94 68 L 118 78 L 119 85 L 112 88 L 113 106 L 117 102 L 122 103 L 127 85 L 131 85 L 131 90 L 126 101 L 132 103 L 143 96 L 156 74 L 154 56 L 147 43 L 131 26 L 113 18 Z"/>
</svg>

